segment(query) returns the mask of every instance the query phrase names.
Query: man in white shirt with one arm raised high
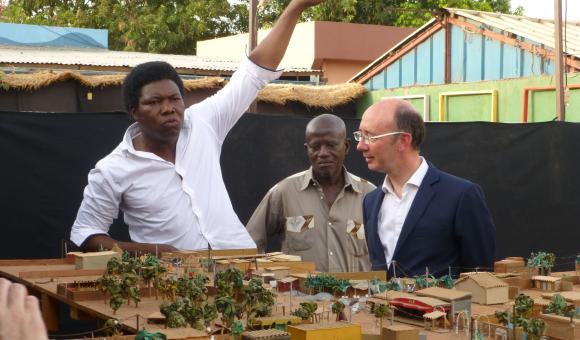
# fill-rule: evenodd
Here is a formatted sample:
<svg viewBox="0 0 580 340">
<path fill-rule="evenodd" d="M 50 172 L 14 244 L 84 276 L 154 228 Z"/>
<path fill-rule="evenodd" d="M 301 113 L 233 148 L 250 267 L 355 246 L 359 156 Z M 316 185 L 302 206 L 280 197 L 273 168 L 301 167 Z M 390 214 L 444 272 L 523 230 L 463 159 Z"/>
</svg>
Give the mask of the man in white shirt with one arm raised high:
<svg viewBox="0 0 580 340">
<path fill-rule="evenodd" d="M 90 171 L 71 230 L 83 250 L 117 243 L 134 252 L 255 248 L 236 216 L 220 168 L 223 141 L 276 69 L 301 13 L 324 0 L 292 0 L 228 85 L 185 109 L 183 83 L 167 63 L 138 65 L 123 84 L 136 123 Z M 118 210 L 133 242 L 108 235 Z"/>
</svg>

